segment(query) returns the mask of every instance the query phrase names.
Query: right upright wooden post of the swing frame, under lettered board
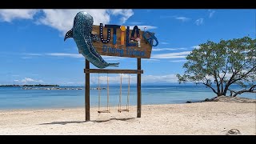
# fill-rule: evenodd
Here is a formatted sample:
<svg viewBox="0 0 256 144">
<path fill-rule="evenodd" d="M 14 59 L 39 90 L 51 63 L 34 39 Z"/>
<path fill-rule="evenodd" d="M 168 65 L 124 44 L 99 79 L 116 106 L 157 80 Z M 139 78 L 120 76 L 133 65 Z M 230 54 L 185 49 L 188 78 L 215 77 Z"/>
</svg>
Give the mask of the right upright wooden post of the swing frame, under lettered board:
<svg viewBox="0 0 256 144">
<path fill-rule="evenodd" d="M 138 70 L 142 69 L 141 58 L 137 58 Z M 137 118 L 141 118 L 142 114 L 142 91 L 141 91 L 141 75 L 137 74 Z"/>
</svg>

